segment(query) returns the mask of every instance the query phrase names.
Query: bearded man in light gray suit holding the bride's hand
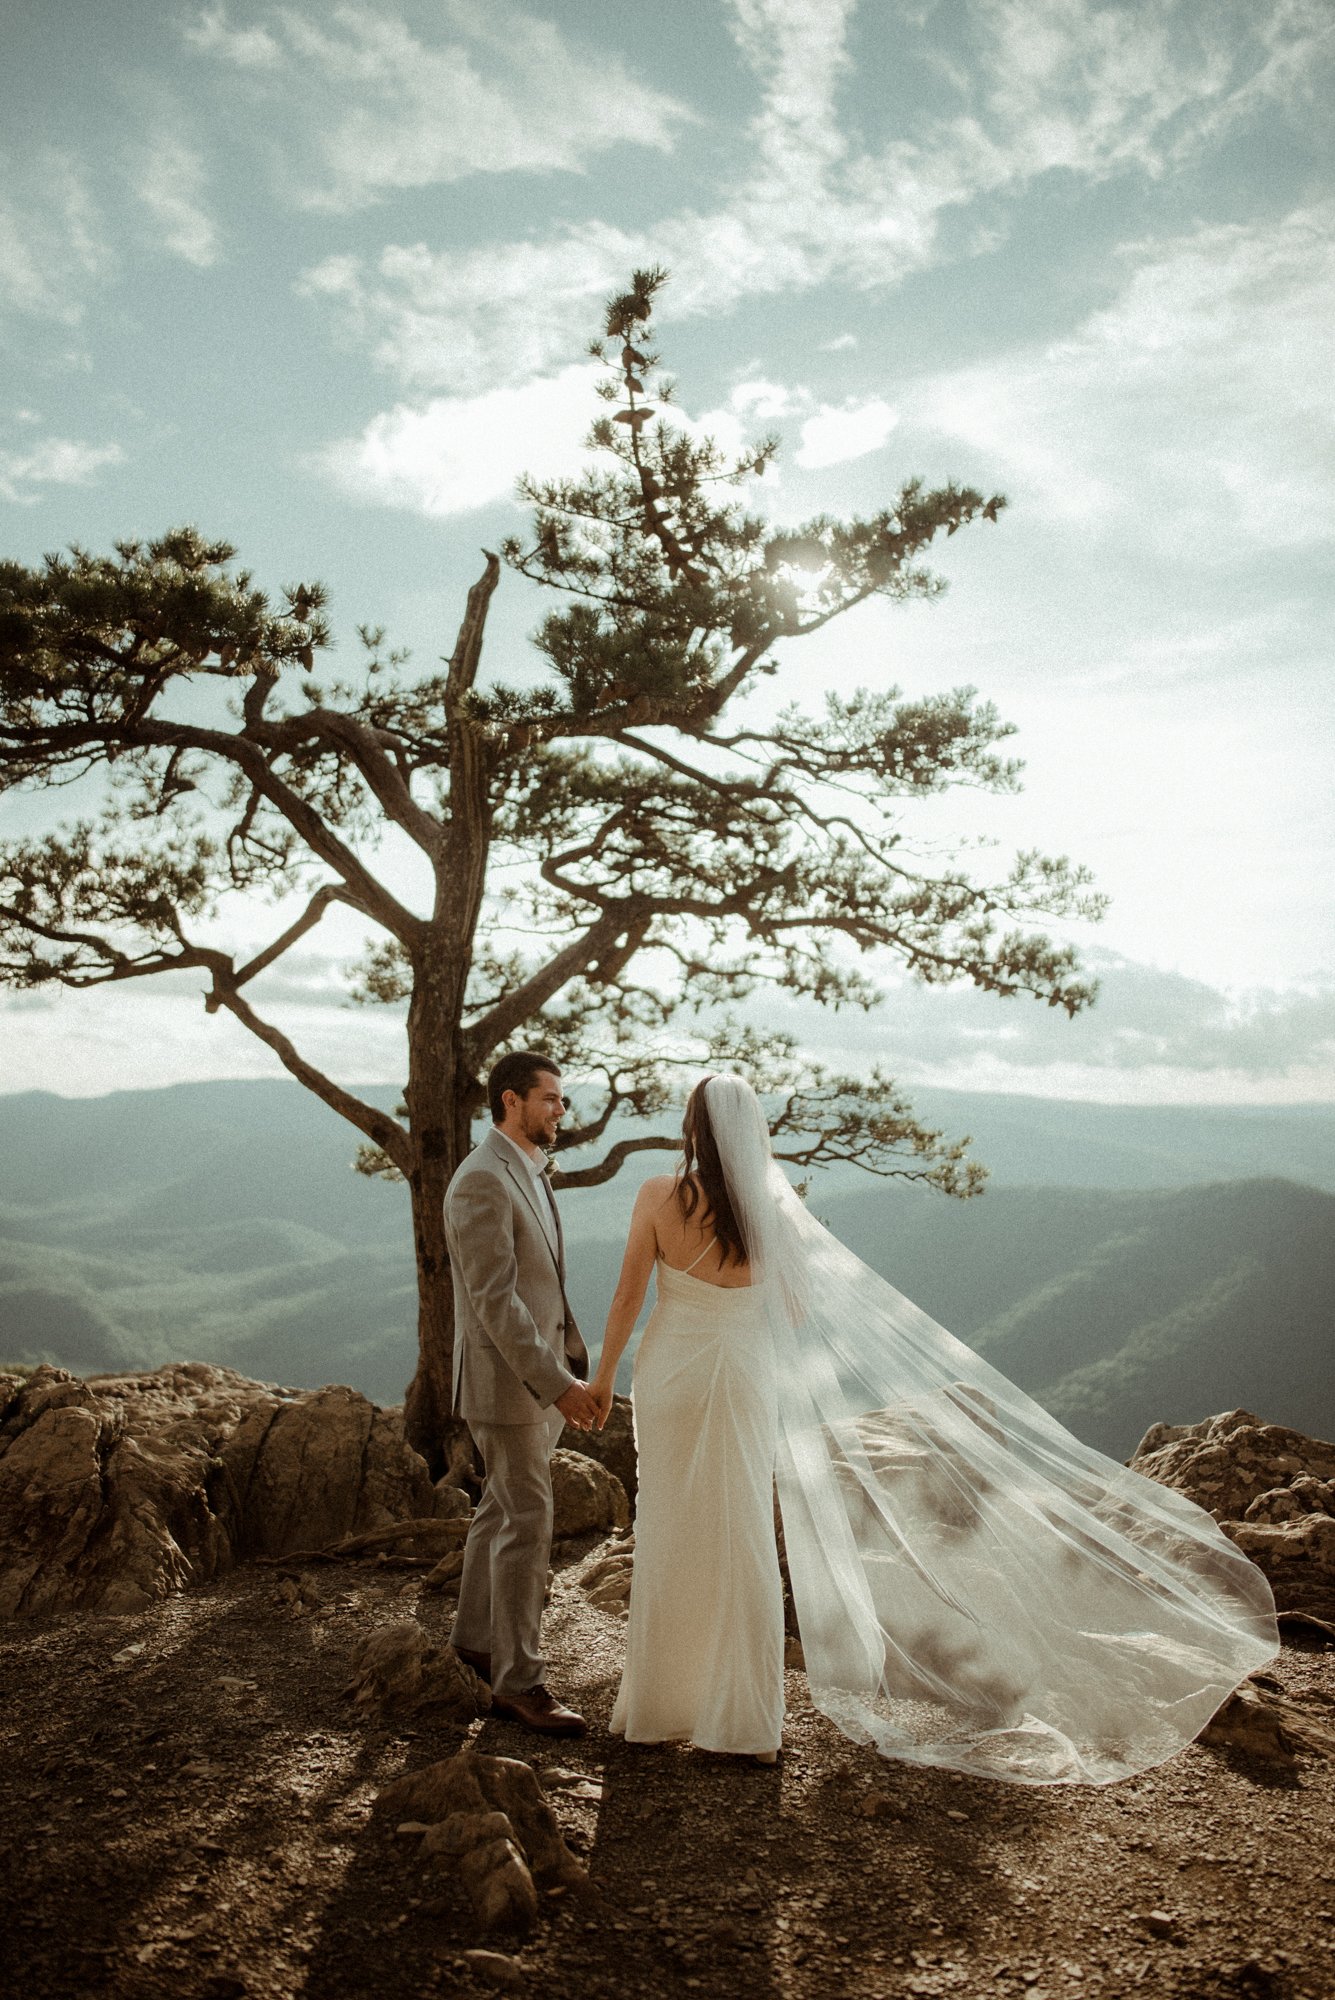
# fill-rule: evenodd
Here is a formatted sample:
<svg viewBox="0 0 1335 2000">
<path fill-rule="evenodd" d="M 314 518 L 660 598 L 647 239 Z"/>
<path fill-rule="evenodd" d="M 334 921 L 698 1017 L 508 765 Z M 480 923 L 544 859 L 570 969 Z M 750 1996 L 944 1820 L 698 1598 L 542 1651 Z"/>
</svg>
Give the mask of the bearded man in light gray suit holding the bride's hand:
<svg viewBox="0 0 1335 2000">
<path fill-rule="evenodd" d="M 450 1642 L 492 1682 L 492 1708 L 544 1736 L 584 1716 L 544 1682 L 538 1644 L 552 1554 L 552 1452 L 588 1430 L 590 1356 L 566 1300 L 566 1246 L 544 1172 L 566 1100 L 548 1056 L 502 1056 L 488 1076 L 492 1130 L 446 1190 L 454 1274 L 454 1408 L 482 1456 Z"/>
</svg>

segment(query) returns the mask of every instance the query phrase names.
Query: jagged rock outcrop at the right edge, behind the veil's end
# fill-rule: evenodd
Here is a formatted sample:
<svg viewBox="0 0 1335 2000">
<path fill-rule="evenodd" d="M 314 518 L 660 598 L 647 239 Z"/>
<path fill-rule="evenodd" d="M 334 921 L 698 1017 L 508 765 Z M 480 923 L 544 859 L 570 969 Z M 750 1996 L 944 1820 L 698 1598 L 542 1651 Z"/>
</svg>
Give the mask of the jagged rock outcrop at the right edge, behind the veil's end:
<svg viewBox="0 0 1335 2000">
<path fill-rule="evenodd" d="M 1131 1466 L 1213 1514 L 1265 1572 L 1281 1614 L 1335 1622 L 1335 1444 L 1227 1410 L 1155 1424 Z"/>
</svg>

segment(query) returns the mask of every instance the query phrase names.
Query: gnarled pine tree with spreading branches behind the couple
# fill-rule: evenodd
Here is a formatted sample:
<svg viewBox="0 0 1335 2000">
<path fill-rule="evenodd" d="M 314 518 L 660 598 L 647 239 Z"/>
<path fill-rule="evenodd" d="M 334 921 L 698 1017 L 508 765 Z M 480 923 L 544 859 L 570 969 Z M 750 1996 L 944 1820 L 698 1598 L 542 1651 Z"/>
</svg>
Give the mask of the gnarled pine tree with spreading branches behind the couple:
<svg viewBox="0 0 1335 2000">
<path fill-rule="evenodd" d="M 86 988 L 194 968 L 208 1012 L 230 1012 L 360 1130 L 362 1170 L 406 1180 L 420 1274 L 408 1426 L 432 1456 L 450 1428 L 442 1198 L 500 1052 L 536 1046 L 578 1078 L 560 1158 L 602 1152 L 558 1186 L 668 1146 L 644 1122 L 681 1070 L 729 1064 L 769 1094 L 783 1158 L 971 1194 L 967 1140 L 923 1128 L 879 1066 L 849 1078 L 805 1062 L 757 998 L 873 1006 L 863 964 L 877 954 L 1067 1014 L 1093 994 L 1067 946 L 1025 928 L 1097 914 L 1081 868 L 1021 854 L 973 880 L 905 844 L 913 798 L 1015 788 L 991 704 L 971 688 L 831 692 L 773 720 L 747 704 L 785 642 L 873 596 L 935 596 L 925 550 L 995 522 L 1001 496 L 909 480 L 867 520 L 775 532 L 751 494 L 777 442 L 729 460 L 673 420 L 652 334 L 662 284 L 636 272 L 610 304 L 592 470 L 524 482 L 532 532 L 488 556 L 440 674 L 362 630 L 356 678 L 318 678 L 324 586 L 274 606 L 226 542 L 192 528 L 0 564 L 0 782 L 108 780 L 98 816 L 0 848 L 0 978 Z M 538 686 L 480 680 L 502 560 L 558 600 L 536 634 Z M 212 720 L 200 682 L 232 690 Z M 378 872 L 388 826 L 430 866 L 428 910 Z M 242 962 L 210 928 L 238 890 L 304 898 Z M 394 1116 L 302 1056 L 248 992 L 334 904 L 374 926 L 354 994 L 408 1004 Z"/>
</svg>

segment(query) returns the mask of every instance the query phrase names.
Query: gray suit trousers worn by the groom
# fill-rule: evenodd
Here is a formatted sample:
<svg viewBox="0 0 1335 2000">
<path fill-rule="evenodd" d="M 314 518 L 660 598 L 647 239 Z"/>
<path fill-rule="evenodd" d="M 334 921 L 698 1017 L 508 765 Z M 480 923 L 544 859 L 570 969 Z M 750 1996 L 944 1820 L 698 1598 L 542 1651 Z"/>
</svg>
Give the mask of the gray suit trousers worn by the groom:
<svg viewBox="0 0 1335 2000">
<path fill-rule="evenodd" d="M 496 1694 L 544 1678 L 542 1600 L 552 1558 L 552 1452 L 560 1410 L 542 1424 L 470 1424 L 486 1482 L 464 1544 L 460 1606 L 450 1642 L 492 1654 Z"/>
</svg>

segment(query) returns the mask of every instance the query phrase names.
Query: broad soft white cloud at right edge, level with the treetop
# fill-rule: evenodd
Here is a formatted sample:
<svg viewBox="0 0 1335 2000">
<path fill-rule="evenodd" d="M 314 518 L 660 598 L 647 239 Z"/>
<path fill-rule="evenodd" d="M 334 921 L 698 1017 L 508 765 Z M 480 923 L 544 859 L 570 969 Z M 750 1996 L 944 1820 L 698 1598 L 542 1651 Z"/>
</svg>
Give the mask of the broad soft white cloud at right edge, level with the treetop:
<svg viewBox="0 0 1335 2000">
<path fill-rule="evenodd" d="M 1123 252 L 1079 332 L 927 380 L 913 428 L 965 440 L 1025 508 L 1229 554 L 1329 538 L 1335 202 Z"/>
</svg>

